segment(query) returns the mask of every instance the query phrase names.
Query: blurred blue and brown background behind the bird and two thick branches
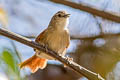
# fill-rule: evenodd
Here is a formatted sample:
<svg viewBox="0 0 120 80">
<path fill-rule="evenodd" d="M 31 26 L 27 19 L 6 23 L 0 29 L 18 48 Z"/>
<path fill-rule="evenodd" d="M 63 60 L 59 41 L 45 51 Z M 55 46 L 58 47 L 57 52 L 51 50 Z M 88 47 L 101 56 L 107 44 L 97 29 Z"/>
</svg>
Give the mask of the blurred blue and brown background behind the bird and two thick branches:
<svg viewBox="0 0 120 80">
<path fill-rule="evenodd" d="M 120 15 L 120 0 L 68 1 Z M 120 80 L 119 23 L 48 0 L 0 0 L 0 27 L 34 40 L 59 10 L 71 14 L 67 56 L 106 80 Z M 53 60 L 34 74 L 20 70 L 18 64 L 33 54 L 32 48 L 0 36 L 0 80 L 87 80 Z"/>
</svg>

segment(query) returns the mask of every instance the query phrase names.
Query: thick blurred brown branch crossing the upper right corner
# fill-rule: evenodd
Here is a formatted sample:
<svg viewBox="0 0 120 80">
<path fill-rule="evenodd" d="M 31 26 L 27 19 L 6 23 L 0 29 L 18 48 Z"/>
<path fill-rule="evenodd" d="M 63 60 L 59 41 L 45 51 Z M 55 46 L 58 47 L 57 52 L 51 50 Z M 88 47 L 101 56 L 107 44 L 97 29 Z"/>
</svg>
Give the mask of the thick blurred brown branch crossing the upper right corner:
<svg viewBox="0 0 120 80">
<path fill-rule="evenodd" d="M 106 12 L 106 11 L 92 8 L 92 7 L 87 6 L 83 3 L 77 4 L 77 3 L 73 3 L 70 1 L 66 1 L 66 0 L 50 0 L 50 1 L 55 2 L 55 3 L 59 3 L 59 4 L 64 4 L 64 5 L 70 6 L 70 7 L 75 8 L 75 9 L 80 9 L 80 10 L 83 10 L 85 12 L 91 13 L 95 16 L 99 16 L 99 17 L 102 17 L 104 19 L 108 19 L 108 20 L 120 23 L 120 16 L 111 14 L 111 13 Z"/>
</svg>

